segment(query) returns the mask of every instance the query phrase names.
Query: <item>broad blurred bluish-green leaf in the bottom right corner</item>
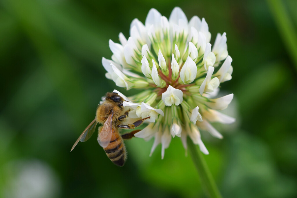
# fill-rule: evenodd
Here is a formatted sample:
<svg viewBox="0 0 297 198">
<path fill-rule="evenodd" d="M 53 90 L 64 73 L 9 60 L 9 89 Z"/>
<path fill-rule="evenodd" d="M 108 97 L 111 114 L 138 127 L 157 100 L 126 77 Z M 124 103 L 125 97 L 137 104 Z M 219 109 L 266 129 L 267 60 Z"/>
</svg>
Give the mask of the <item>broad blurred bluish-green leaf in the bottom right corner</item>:
<svg viewBox="0 0 297 198">
<path fill-rule="evenodd" d="M 296 182 L 277 172 L 263 142 L 238 132 L 228 147 L 223 197 L 294 197 Z"/>
</svg>

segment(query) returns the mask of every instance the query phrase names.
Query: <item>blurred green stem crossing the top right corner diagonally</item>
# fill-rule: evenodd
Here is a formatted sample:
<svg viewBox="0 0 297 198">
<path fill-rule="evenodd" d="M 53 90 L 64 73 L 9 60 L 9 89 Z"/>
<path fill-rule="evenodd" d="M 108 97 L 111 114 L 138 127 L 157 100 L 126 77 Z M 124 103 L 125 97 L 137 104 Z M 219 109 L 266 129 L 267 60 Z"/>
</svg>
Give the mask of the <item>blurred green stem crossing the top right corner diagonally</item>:
<svg viewBox="0 0 297 198">
<path fill-rule="evenodd" d="M 294 25 L 280 0 L 267 0 L 274 20 L 279 29 L 279 33 L 287 47 L 287 52 L 291 56 L 295 69 L 297 69 L 297 34 Z"/>
</svg>

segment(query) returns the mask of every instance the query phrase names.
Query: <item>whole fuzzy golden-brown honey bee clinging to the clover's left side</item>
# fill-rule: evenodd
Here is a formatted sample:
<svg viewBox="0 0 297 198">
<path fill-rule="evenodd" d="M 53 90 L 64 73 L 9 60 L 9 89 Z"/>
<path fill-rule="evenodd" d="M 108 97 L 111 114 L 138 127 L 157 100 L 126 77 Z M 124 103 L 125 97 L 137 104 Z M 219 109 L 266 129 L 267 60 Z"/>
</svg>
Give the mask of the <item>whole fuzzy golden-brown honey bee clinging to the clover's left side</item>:
<svg viewBox="0 0 297 198">
<path fill-rule="evenodd" d="M 104 101 L 97 107 L 95 119 L 78 137 L 72 146 L 71 151 L 79 141 L 85 142 L 89 140 L 94 133 L 97 124 L 102 123 L 103 126 L 98 129 L 98 143 L 103 147 L 106 155 L 114 164 L 123 166 L 127 159 L 127 151 L 123 139 L 131 139 L 134 137 L 134 134 L 140 130 L 120 135 L 118 128 L 134 129 L 137 126 L 140 126 L 144 120 L 150 118 L 150 116 L 148 116 L 135 121 L 133 124 L 121 124 L 129 114 L 129 110 L 124 112 L 124 101 L 125 100 L 115 92 L 105 94 Z"/>
</svg>

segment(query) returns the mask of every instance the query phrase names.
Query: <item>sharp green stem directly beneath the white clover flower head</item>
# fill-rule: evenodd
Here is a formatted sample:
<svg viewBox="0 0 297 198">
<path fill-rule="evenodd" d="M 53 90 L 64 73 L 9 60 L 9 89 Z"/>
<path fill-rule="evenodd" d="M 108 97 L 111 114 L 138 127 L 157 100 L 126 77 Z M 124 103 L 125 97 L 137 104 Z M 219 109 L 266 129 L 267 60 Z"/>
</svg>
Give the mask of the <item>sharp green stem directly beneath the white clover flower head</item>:
<svg viewBox="0 0 297 198">
<path fill-rule="evenodd" d="M 206 191 L 208 192 L 208 196 L 211 198 L 221 198 L 222 196 L 219 192 L 216 183 L 214 182 L 214 178 L 212 177 L 211 172 L 207 167 L 206 161 L 203 158 L 202 153 L 200 151 L 197 151 L 197 146 L 194 145 L 194 143 L 189 137 L 187 143 L 192 160 L 195 164 L 198 174 L 200 175 L 201 184 L 203 185 L 204 189 L 206 189 Z"/>
</svg>

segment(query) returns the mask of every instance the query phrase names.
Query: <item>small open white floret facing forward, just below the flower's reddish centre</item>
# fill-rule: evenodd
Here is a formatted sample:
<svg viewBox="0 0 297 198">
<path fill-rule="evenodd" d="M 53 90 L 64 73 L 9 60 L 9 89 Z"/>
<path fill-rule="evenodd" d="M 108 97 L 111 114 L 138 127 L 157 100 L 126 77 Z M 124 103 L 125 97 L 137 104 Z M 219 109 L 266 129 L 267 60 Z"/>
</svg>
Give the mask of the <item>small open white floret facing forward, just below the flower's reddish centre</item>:
<svg viewBox="0 0 297 198">
<path fill-rule="evenodd" d="M 162 100 L 166 106 L 171 106 L 172 104 L 179 105 L 183 102 L 183 92 L 169 85 L 162 94 Z"/>
</svg>

